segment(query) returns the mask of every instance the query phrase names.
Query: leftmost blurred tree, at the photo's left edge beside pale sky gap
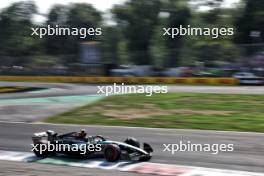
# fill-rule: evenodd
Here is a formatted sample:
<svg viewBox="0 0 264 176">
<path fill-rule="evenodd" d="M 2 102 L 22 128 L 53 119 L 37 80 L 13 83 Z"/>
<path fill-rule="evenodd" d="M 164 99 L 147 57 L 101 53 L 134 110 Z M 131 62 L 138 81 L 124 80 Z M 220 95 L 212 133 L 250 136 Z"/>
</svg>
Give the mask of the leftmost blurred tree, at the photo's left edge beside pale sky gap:
<svg viewBox="0 0 264 176">
<path fill-rule="evenodd" d="M 22 65 L 28 60 L 16 56 L 30 55 L 39 49 L 30 35 L 36 11 L 34 2 L 21 1 L 13 3 L 0 13 L 0 54 L 13 56 L 13 61 L 9 63 Z"/>
</svg>

